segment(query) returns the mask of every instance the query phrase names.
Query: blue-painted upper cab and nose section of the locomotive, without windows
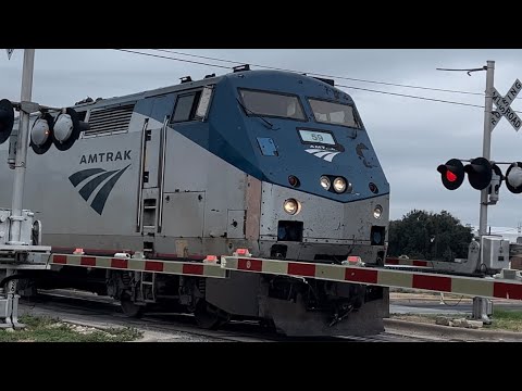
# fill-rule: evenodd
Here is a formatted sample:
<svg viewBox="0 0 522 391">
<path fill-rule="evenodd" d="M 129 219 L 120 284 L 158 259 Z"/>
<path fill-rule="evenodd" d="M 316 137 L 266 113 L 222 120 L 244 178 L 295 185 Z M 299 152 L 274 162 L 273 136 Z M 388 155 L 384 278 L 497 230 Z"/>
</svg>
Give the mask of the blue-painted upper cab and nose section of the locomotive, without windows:
<svg viewBox="0 0 522 391">
<path fill-rule="evenodd" d="M 162 123 L 164 115 L 173 114 L 177 96 L 209 85 L 214 86 L 214 91 L 207 121 L 171 123 L 170 126 L 213 154 L 260 180 L 281 186 L 290 187 L 288 176 L 296 176 L 300 180 L 299 190 L 340 202 L 389 192 L 353 100 L 348 93 L 313 77 L 279 71 L 236 72 L 112 98 L 96 102 L 95 106 L 136 101 L 136 112 Z M 241 101 L 243 90 L 294 97 L 302 116 L 249 115 Z M 152 98 L 158 96 L 167 97 L 164 108 L 151 112 Z M 357 126 L 318 122 L 311 108 L 312 100 L 353 108 Z M 335 144 L 303 139 L 303 135 L 309 137 L 312 134 L 323 135 Z M 345 177 L 353 185 L 353 191 L 341 194 L 325 191 L 320 186 L 323 175 Z"/>
</svg>

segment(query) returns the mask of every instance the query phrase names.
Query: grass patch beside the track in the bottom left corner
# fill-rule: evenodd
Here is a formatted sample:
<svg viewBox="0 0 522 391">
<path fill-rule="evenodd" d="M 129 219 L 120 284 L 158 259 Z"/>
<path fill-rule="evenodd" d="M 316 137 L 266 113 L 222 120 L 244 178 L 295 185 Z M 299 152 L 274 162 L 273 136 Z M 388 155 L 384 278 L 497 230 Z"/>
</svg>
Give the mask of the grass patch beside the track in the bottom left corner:
<svg viewBox="0 0 522 391">
<path fill-rule="evenodd" d="M 127 342 L 141 338 L 133 328 L 95 329 L 65 324 L 57 318 L 24 315 L 22 330 L 1 330 L 0 342 Z"/>
</svg>

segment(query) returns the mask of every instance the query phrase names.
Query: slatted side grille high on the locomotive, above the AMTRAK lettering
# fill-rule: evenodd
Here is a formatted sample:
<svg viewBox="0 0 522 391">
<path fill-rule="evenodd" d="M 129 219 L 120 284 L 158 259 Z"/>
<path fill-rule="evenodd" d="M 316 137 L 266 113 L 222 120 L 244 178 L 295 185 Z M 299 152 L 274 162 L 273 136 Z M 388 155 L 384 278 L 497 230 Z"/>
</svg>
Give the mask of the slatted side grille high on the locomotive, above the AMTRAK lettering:
<svg viewBox="0 0 522 391">
<path fill-rule="evenodd" d="M 92 110 L 89 115 L 90 129 L 84 136 L 111 135 L 128 131 L 134 103 L 117 108 Z"/>
</svg>

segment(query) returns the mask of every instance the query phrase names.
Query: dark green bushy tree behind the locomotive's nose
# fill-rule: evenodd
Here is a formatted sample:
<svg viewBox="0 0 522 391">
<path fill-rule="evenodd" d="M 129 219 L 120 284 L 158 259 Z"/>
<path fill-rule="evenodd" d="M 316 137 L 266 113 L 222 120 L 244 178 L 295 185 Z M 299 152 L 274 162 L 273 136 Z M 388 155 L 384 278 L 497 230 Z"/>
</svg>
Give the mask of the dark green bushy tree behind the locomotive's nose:
<svg viewBox="0 0 522 391">
<path fill-rule="evenodd" d="M 472 228 L 464 227 L 449 212 L 413 210 L 389 223 L 388 256 L 408 255 L 427 261 L 465 258 L 472 238 Z"/>
</svg>

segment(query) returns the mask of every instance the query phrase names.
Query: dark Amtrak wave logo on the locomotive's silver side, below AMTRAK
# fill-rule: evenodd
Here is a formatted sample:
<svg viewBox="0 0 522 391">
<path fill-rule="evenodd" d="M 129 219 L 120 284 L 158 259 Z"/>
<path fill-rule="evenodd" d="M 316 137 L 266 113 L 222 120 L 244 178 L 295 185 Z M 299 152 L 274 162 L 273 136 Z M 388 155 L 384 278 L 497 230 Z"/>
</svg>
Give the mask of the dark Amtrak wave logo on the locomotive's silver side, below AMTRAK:
<svg viewBox="0 0 522 391">
<path fill-rule="evenodd" d="M 105 171 L 102 168 L 87 168 L 74 173 L 69 177 L 71 184 L 76 188 L 79 184 L 82 184 L 85 179 L 92 177 L 87 184 L 85 184 L 82 189 L 78 190 L 79 195 L 85 201 L 89 200 L 89 197 L 95 192 L 95 190 L 101 185 L 101 182 L 108 178 L 110 178 L 105 185 L 101 187 L 100 190 L 96 193 L 92 202 L 90 203 L 90 207 L 92 207 L 96 213 L 101 215 L 103 212 L 103 207 L 105 206 L 107 199 L 112 191 L 114 185 L 120 179 L 120 177 L 125 173 L 125 171 L 130 166 L 127 165 L 125 168 L 115 169 L 115 171 Z"/>
</svg>

